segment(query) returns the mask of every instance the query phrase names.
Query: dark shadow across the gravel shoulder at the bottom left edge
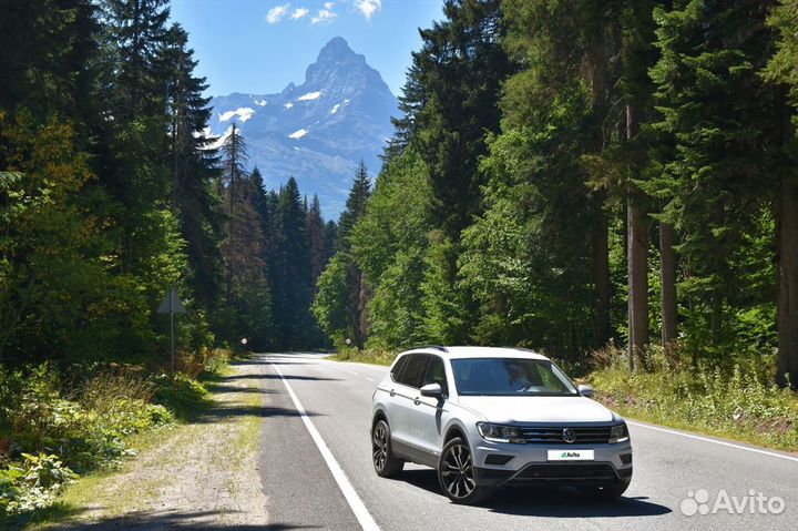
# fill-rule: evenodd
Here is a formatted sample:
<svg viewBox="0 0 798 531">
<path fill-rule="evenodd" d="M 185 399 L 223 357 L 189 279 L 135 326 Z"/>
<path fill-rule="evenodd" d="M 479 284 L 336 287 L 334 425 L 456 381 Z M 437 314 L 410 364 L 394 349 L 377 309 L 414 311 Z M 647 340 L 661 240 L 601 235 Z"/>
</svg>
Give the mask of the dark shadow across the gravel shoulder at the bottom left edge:
<svg viewBox="0 0 798 531">
<path fill-rule="evenodd" d="M 51 531 L 119 531 L 121 529 L 135 531 L 161 531 L 165 529 L 192 529 L 197 531 L 284 531 L 290 529 L 321 529 L 318 527 L 294 525 L 283 522 L 255 525 L 246 523 L 223 523 L 218 521 L 224 520 L 224 518 L 219 517 L 227 515 L 235 520 L 234 511 L 134 512 L 125 514 L 124 517 L 104 518 L 89 523 L 62 523 L 49 527 L 48 529 Z"/>
</svg>

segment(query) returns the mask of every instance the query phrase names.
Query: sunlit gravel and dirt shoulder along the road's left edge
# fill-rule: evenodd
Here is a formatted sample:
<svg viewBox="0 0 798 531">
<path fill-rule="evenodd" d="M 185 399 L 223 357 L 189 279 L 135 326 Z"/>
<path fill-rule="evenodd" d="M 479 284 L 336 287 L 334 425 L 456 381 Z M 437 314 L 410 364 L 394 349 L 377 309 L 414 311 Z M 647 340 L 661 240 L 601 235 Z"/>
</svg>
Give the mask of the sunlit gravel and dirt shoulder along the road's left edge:
<svg viewBox="0 0 798 531">
<path fill-rule="evenodd" d="M 115 473 L 64 494 L 62 518 L 37 529 L 254 529 L 266 525 L 258 473 L 263 392 L 256 361 L 236 362 L 207 387 L 214 406 L 164 430 Z"/>
</svg>

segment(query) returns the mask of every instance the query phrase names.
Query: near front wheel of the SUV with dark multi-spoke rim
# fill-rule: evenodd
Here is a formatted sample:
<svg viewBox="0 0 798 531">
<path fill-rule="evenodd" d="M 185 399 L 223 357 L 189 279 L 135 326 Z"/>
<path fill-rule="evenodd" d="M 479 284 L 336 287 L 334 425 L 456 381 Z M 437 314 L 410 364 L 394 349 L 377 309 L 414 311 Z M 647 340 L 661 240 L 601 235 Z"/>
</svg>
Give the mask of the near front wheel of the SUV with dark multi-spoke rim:
<svg viewBox="0 0 798 531">
<path fill-rule="evenodd" d="M 493 489 L 477 484 L 471 448 L 456 437 L 443 446 L 438 460 L 438 483 L 454 503 L 473 506 L 493 496 Z"/>
</svg>

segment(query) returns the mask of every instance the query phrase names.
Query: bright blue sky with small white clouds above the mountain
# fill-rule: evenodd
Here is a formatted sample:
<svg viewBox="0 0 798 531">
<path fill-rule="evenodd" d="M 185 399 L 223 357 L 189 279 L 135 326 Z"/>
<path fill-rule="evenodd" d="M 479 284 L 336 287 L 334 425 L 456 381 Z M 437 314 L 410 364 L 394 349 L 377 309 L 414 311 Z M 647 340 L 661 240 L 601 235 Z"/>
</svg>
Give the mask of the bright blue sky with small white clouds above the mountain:
<svg viewBox="0 0 798 531">
<path fill-rule="evenodd" d="M 399 95 L 418 50 L 418 28 L 441 19 L 441 0 L 172 0 L 190 33 L 207 95 L 266 94 L 300 83 L 305 69 L 340 35 Z"/>
</svg>

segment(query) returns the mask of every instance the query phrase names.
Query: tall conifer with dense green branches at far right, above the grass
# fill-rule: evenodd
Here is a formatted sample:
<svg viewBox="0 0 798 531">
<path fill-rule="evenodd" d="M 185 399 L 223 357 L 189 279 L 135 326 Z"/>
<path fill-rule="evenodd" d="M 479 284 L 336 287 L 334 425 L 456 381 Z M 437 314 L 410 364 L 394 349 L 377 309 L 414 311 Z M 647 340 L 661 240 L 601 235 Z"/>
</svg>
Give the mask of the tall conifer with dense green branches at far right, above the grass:
<svg viewBox="0 0 798 531">
<path fill-rule="evenodd" d="M 662 113 L 655 127 L 674 150 L 646 191 L 666 201 L 661 217 L 682 235 L 678 252 L 688 268 L 681 288 L 693 308 L 690 325 L 710 331 L 694 335 L 694 355 L 732 340 L 729 309 L 769 298 L 743 288 L 773 276 L 748 274 L 739 256 L 768 215 L 767 140 L 781 129 L 777 92 L 758 75 L 773 51 L 764 24 L 771 4 L 692 0 L 655 11 L 662 54 L 652 69 Z M 751 277 L 757 274 L 763 279 Z"/>
</svg>

